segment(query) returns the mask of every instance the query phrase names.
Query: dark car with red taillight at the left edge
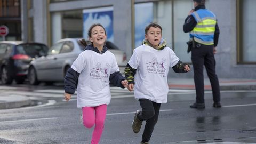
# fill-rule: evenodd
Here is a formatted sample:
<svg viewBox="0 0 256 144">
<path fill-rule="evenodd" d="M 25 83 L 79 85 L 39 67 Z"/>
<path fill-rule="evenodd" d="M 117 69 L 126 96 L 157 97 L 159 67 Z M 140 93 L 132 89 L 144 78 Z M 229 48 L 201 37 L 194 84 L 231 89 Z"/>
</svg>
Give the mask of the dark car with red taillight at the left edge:
<svg viewBox="0 0 256 144">
<path fill-rule="evenodd" d="M 48 47 L 42 43 L 0 41 L 0 79 L 2 84 L 17 84 L 25 81 L 29 63 L 34 58 L 46 55 Z"/>
</svg>

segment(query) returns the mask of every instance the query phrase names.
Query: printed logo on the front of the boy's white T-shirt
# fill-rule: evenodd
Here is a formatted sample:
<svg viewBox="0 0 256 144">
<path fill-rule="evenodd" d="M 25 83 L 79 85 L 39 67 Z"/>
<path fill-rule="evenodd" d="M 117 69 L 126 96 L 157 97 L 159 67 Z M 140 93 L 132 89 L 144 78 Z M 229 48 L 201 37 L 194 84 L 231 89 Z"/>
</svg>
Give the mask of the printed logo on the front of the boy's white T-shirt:
<svg viewBox="0 0 256 144">
<path fill-rule="evenodd" d="M 165 77 L 165 61 L 165 58 L 162 58 L 161 61 L 158 61 L 156 57 L 153 57 L 151 62 L 146 63 L 148 73 L 163 74 L 161 76 Z"/>
</svg>

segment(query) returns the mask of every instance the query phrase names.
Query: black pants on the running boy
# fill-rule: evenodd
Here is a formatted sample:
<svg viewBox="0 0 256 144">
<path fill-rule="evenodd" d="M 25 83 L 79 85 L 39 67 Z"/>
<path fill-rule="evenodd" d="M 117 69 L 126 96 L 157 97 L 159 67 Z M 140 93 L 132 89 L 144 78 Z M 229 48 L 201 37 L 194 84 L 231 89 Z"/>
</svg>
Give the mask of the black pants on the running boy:
<svg viewBox="0 0 256 144">
<path fill-rule="evenodd" d="M 143 121 L 146 120 L 146 125 L 142 135 L 142 142 L 147 142 L 150 140 L 154 127 L 157 123 L 161 103 L 156 103 L 149 99 L 139 99 L 139 101 L 142 111 L 139 113 L 138 118 Z"/>
</svg>

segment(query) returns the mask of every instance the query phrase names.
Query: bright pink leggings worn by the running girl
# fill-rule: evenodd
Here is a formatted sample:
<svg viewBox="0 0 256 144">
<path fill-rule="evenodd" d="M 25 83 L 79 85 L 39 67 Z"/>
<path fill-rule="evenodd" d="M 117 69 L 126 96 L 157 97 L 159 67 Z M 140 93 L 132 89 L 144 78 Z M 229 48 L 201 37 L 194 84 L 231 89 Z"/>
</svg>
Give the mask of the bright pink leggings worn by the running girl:
<svg viewBox="0 0 256 144">
<path fill-rule="evenodd" d="M 91 128 L 94 124 L 91 144 L 98 144 L 104 129 L 104 122 L 107 113 L 107 105 L 97 107 L 83 107 L 83 123 L 87 128 Z M 95 115 L 94 115 L 95 111 Z"/>
</svg>

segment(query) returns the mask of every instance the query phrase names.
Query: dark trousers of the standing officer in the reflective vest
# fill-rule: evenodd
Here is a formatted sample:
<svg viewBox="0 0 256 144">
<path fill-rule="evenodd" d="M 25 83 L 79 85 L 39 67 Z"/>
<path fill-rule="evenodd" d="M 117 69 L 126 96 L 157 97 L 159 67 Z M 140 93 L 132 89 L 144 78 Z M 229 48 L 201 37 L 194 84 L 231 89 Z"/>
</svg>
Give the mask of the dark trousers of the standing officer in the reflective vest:
<svg viewBox="0 0 256 144">
<path fill-rule="evenodd" d="M 196 103 L 204 103 L 204 66 L 212 86 L 213 101 L 220 102 L 220 86 L 215 73 L 213 45 L 203 45 L 195 42 L 191 60 L 194 67 L 194 82 L 196 87 Z"/>
</svg>

